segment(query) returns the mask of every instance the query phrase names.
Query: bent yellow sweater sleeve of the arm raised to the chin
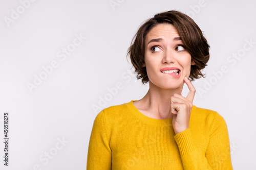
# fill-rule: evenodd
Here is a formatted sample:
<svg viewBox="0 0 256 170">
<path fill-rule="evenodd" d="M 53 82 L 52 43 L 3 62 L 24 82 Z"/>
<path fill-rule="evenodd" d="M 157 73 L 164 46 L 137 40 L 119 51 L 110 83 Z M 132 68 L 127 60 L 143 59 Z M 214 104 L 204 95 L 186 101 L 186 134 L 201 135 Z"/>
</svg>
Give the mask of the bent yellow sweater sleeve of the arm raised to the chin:
<svg viewBox="0 0 256 170">
<path fill-rule="evenodd" d="M 216 112 L 217 113 L 217 112 Z M 209 143 L 205 156 L 200 154 L 191 130 L 175 135 L 183 168 L 186 169 L 233 169 L 230 157 L 230 145 L 227 125 L 220 114 L 216 114 L 210 126 Z"/>
</svg>

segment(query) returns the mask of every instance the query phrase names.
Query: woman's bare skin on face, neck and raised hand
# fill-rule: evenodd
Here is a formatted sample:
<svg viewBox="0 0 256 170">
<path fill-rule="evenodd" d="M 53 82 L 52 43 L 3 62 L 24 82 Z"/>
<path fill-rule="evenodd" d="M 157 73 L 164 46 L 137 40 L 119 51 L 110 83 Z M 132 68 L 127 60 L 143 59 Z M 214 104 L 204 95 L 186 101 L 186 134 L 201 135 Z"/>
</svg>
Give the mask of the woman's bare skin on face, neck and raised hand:
<svg viewBox="0 0 256 170">
<path fill-rule="evenodd" d="M 162 40 L 153 41 L 152 39 Z M 176 39 L 175 39 L 176 38 Z M 190 66 L 195 65 L 191 55 L 182 45 L 175 27 L 169 23 L 161 23 L 151 29 L 145 39 L 145 63 L 150 88 L 146 95 L 134 106 L 144 115 L 156 119 L 173 118 L 176 134 L 189 128 L 189 118 L 193 107 L 196 89 L 185 79 L 190 75 Z M 154 46 L 154 47 L 153 47 Z M 153 47 L 153 48 L 152 48 Z M 160 69 L 177 67 L 180 78 L 164 74 Z M 184 83 L 189 88 L 187 97 L 181 95 Z"/>
</svg>

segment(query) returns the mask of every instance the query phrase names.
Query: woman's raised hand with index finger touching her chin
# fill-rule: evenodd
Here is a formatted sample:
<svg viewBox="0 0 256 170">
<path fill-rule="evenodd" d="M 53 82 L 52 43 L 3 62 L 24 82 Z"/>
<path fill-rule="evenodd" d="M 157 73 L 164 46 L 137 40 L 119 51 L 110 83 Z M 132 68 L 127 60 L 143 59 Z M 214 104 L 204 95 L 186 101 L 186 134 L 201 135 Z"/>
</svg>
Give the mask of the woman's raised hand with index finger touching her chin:
<svg viewBox="0 0 256 170">
<path fill-rule="evenodd" d="M 178 134 L 189 128 L 190 113 L 193 107 L 193 100 L 196 93 L 196 89 L 193 84 L 185 77 L 185 83 L 188 86 L 189 92 L 187 97 L 183 97 L 180 94 L 174 93 L 170 97 L 170 111 L 173 115 L 173 128 L 175 134 Z"/>
</svg>

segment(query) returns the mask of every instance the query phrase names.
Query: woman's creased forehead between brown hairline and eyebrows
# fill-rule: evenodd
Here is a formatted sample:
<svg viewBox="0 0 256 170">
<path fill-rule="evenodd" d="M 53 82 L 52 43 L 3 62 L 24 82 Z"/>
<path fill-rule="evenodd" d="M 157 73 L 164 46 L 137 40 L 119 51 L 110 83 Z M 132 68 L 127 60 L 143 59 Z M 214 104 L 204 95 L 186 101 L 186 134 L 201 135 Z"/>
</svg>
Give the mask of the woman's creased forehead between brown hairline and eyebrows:
<svg viewBox="0 0 256 170">
<path fill-rule="evenodd" d="M 170 23 L 160 23 L 147 33 L 145 41 L 156 37 L 180 37 L 176 28 Z"/>
</svg>

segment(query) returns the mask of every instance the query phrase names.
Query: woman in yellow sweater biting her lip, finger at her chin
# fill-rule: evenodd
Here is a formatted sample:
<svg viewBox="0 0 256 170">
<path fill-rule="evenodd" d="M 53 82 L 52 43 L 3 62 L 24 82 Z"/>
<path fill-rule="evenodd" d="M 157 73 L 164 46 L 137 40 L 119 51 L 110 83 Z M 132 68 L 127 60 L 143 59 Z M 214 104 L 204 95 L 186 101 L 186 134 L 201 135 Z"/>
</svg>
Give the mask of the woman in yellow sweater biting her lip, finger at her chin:
<svg viewBox="0 0 256 170">
<path fill-rule="evenodd" d="M 193 105 L 190 81 L 204 76 L 209 60 L 209 45 L 194 20 L 178 11 L 159 13 L 133 40 L 127 55 L 150 88 L 141 100 L 96 116 L 87 169 L 232 169 L 225 120 Z"/>
</svg>

